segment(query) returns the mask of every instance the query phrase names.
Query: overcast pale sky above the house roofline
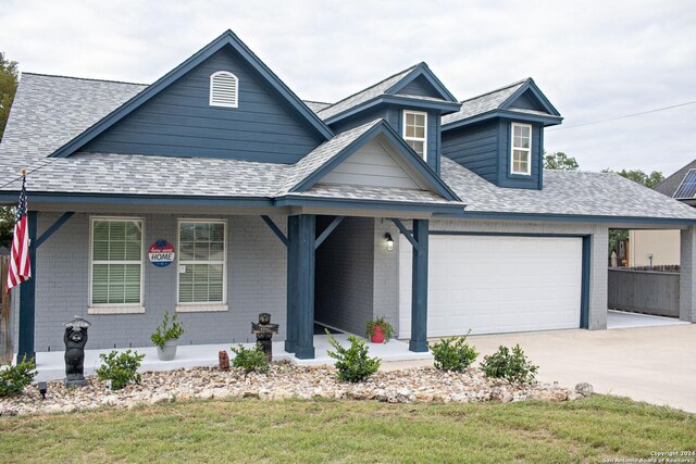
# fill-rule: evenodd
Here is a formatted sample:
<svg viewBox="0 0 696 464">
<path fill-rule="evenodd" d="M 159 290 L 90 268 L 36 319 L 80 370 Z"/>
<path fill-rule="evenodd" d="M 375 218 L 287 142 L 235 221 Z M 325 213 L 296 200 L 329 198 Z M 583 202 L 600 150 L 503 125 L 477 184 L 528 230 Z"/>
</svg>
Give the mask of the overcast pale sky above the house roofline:
<svg viewBox="0 0 696 464">
<path fill-rule="evenodd" d="M 532 76 L 566 117 L 547 151 L 583 170 L 670 174 L 696 158 L 694 0 L 0 0 L 0 24 L 21 71 L 136 83 L 229 28 L 321 101 L 420 61 L 458 99 Z"/>
</svg>

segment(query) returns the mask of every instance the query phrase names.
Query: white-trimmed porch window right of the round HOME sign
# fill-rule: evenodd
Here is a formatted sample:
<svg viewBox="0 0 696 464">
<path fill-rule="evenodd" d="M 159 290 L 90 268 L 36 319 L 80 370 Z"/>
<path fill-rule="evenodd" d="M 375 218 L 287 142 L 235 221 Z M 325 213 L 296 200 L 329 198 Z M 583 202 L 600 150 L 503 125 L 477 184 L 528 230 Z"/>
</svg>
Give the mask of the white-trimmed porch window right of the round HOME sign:
<svg viewBox="0 0 696 464">
<path fill-rule="evenodd" d="M 179 305 L 226 303 L 225 221 L 179 220 Z"/>
</svg>

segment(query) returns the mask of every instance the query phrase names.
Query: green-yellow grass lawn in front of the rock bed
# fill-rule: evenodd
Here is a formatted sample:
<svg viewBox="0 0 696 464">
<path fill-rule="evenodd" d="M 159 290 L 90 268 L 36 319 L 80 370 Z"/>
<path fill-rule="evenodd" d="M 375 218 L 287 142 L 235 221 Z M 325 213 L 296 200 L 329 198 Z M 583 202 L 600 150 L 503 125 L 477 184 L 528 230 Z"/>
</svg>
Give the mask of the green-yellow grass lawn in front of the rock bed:
<svg viewBox="0 0 696 464">
<path fill-rule="evenodd" d="M 2 462 L 601 462 L 696 450 L 696 415 L 546 403 L 192 401 L 0 418 Z"/>
</svg>

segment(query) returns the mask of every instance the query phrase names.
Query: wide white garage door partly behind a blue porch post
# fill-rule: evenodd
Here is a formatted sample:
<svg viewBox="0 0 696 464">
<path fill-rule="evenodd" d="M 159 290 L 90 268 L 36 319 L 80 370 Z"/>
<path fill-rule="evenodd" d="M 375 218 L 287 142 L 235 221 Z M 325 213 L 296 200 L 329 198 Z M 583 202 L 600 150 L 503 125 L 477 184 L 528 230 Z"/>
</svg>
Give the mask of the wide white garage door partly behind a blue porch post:
<svg viewBox="0 0 696 464">
<path fill-rule="evenodd" d="M 399 337 L 411 336 L 411 243 L 399 243 Z M 431 235 L 427 336 L 580 327 L 582 239 Z"/>
</svg>

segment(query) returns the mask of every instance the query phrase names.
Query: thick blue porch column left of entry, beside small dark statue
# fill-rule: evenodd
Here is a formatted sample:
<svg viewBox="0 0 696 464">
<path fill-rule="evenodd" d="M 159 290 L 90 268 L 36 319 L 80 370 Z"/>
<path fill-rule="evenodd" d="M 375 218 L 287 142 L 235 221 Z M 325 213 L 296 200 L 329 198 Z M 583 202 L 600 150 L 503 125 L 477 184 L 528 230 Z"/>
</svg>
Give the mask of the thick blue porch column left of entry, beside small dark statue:
<svg viewBox="0 0 696 464">
<path fill-rule="evenodd" d="M 300 360 L 314 358 L 314 249 L 313 214 L 288 218 L 288 315 L 286 351 Z"/>
</svg>

